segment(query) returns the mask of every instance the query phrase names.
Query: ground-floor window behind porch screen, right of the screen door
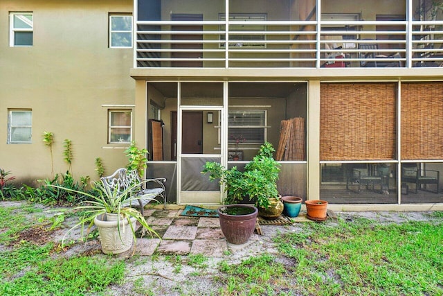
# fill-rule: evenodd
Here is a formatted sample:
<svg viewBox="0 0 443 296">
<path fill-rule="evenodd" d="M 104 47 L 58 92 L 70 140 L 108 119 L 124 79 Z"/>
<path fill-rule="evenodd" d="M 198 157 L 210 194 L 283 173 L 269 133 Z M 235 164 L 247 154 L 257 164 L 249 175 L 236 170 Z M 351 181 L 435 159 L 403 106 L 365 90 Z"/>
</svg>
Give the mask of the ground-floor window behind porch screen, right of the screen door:
<svg viewBox="0 0 443 296">
<path fill-rule="evenodd" d="M 228 141 L 262 144 L 266 141 L 266 110 L 231 110 L 228 116 Z"/>
</svg>

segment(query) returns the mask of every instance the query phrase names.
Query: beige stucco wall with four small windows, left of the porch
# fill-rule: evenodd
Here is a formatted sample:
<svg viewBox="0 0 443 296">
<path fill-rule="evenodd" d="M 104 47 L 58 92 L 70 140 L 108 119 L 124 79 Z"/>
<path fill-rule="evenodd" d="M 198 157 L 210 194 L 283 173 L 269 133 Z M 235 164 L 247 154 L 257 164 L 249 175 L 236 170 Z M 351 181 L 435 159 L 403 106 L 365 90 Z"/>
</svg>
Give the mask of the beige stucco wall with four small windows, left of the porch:
<svg viewBox="0 0 443 296">
<path fill-rule="evenodd" d="M 54 173 L 68 165 L 64 139 L 73 143 L 76 179 L 124 166 L 123 149 L 107 145 L 107 110 L 134 105 L 129 76 L 132 49 L 108 48 L 109 12 L 132 12 L 132 1 L 1 1 L 0 6 L 0 167 L 19 181 L 51 177 L 51 156 L 42 133 L 53 132 Z M 9 12 L 33 12 L 33 46 L 9 46 Z M 8 110 L 33 112 L 30 144 L 8 144 Z M 125 146 L 125 145 L 123 145 Z M 122 147 L 123 147 L 122 146 Z"/>
</svg>

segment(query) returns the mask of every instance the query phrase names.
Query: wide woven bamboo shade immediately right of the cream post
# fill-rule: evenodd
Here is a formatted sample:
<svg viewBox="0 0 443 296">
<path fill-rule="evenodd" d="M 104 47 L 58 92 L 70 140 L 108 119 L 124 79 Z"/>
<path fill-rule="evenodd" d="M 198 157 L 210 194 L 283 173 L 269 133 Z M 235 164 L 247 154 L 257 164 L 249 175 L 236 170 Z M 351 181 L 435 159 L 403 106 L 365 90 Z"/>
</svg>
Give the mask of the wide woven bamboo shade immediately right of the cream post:
<svg viewBox="0 0 443 296">
<path fill-rule="evenodd" d="M 323 83 L 320 160 L 395 158 L 394 83 Z"/>
</svg>

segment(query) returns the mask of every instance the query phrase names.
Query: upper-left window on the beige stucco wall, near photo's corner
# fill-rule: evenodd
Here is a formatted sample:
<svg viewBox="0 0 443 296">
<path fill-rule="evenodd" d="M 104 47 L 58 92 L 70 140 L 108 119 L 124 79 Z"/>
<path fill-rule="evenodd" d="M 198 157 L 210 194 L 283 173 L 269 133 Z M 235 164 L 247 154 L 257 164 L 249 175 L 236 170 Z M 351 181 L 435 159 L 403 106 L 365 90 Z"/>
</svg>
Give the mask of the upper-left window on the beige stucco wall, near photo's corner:
<svg viewBox="0 0 443 296">
<path fill-rule="evenodd" d="M 10 13 L 10 46 L 33 46 L 33 14 Z"/>
</svg>

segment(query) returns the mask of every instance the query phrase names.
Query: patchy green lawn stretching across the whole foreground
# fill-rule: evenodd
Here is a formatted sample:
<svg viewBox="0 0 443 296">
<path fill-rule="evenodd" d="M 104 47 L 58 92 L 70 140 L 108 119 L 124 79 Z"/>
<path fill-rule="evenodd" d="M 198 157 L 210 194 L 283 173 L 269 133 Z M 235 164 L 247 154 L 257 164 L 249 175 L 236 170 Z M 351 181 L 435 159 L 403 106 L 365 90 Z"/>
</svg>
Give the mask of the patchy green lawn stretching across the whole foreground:
<svg viewBox="0 0 443 296">
<path fill-rule="evenodd" d="M 232 263 L 234 254 L 226 251 L 217 270 L 207 270 L 210 258 L 202 254 L 64 258 L 54 243 L 14 241 L 24 229 L 39 225 L 38 218 L 26 216 L 34 211 L 39 209 L 30 204 L 0 207 L 0 295 L 109 295 L 111 286 L 123 285 L 126 265 L 158 261 L 172 264 L 174 275 L 183 273 L 185 265 L 195 268 L 190 283 L 208 274 L 217 287 L 208 290 L 210 295 L 443 295 L 441 211 L 433 212 L 430 221 L 297 223 L 289 228 L 293 232 L 275 236 L 278 252 L 264 250 Z M 159 295 L 155 281 L 145 279 L 134 277 L 127 293 Z M 201 295 L 187 290 L 186 281 L 176 286 L 178 295 Z"/>
</svg>

